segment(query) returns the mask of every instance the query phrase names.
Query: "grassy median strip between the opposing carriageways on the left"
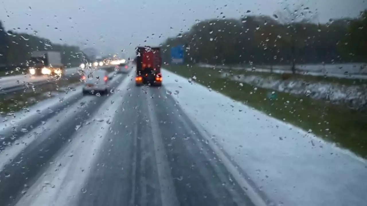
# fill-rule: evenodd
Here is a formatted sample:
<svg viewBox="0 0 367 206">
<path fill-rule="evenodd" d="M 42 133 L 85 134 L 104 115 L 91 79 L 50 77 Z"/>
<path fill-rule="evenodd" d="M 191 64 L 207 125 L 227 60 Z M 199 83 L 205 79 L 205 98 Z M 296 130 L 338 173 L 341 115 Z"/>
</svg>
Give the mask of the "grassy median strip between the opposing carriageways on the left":
<svg viewBox="0 0 367 206">
<path fill-rule="evenodd" d="M 57 95 L 57 93 L 65 93 L 70 89 L 67 88 L 68 86 L 77 84 L 78 82 L 80 82 L 80 77 L 78 75 L 62 77 L 50 82 L 49 84 L 39 85 L 34 89 L 27 88 L 16 92 L 1 94 L 0 114 L 4 115 L 20 110 L 26 110 L 33 104 L 53 97 Z"/>
</svg>

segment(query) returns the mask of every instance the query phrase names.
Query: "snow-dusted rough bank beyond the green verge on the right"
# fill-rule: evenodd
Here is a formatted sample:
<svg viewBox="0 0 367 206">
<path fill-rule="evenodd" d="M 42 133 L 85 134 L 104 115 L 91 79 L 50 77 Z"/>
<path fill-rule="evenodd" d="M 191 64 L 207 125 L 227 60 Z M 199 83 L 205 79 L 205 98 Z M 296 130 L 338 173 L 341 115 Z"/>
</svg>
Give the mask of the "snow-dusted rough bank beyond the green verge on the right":
<svg viewBox="0 0 367 206">
<path fill-rule="evenodd" d="M 342 84 L 330 80 L 308 80 L 300 76 L 289 76 L 283 79 L 281 75 L 254 73 L 254 72 L 225 72 L 221 76 L 233 81 L 244 82 L 257 87 L 274 89 L 275 91 L 288 92 L 295 95 L 307 95 L 313 99 L 330 101 L 331 103 L 344 104 L 356 110 L 367 109 L 367 81 L 353 84 Z M 360 83 L 365 84 L 360 84 Z M 351 83 L 351 82 L 348 82 Z"/>
</svg>

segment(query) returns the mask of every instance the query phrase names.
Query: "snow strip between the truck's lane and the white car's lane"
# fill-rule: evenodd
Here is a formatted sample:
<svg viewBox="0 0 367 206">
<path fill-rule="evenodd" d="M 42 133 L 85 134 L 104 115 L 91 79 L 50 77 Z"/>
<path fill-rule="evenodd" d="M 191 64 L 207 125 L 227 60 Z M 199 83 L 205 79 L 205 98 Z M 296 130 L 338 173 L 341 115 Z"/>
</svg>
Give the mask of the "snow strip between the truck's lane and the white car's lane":
<svg viewBox="0 0 367 206">
<path fill-rule="evenodd" d="M 79 192 L 87 192 L 82 185 L 89 175 L 105 134 L 109 132 L 109 125 L 119 103 L 123 102 L 130 81 L 131 78 L 125 78 L 96 115 L 91 117 L 89 124 L 78 128 L 70 145 L 29 188 L 17 203 L 18 206 L 69 206 L 75 203 Z"/>
</svg>

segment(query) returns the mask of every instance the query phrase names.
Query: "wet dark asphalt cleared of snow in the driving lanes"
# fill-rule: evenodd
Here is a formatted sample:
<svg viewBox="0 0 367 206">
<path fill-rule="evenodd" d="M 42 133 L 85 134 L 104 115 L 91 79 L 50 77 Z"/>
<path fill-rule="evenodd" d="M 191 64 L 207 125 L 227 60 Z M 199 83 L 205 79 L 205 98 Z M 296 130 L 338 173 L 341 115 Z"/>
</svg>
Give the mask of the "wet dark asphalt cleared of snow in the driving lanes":
<svg viewBox="0 0 367 206">
<path fill-rule="evenodd" d="M 126 74 L 116 77 L 112 87 L 116 88 L 126 77 Z M 110 124 L 110 130 L 115 132 L 105 136 L 83 190 L 75 194 L 74 205 L 254 205 L 195 123 L 166 94 L 164 85 L 128 87 L 124 102 L 119 103 L 120 109 Z M 1 135 L 11 137 L 12 143 L 83 98 L 82 94 L 77 95 L 56 110 Z M 33 141 L 12 159 L 0 171 L 0 206 L 15 205 L 75 136 L 75 126 L 83 125 L 109 98 L 96 96 L 70 111 L 75 116 L 73 121 L 57 125 L 52 134 L 41 133 L 40 136 L 47 136 L 37 138 L 40 140 Z"/>
</svg>

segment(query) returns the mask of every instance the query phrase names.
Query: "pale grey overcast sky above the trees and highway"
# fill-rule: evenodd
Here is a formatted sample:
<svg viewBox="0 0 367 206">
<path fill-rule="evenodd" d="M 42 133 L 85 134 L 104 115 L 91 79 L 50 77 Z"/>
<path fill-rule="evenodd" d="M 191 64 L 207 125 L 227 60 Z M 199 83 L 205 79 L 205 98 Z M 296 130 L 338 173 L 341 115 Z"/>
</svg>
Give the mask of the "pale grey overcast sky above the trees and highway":
<svg viewBox="0 0 367 206">
<path fill-rule="evenodd" d="M 303 3 L 320 22 L 355 17 L 367 8 L 366 0 L 2 0 L 0 20 L 7 30 L 36 30 L 54 43 L 131 54 L 139 44 L 159 45 L 188 30 L 196 19 L 240 18 L 247 10 L 272 15 L 284 2 Z"/>
</svg>

